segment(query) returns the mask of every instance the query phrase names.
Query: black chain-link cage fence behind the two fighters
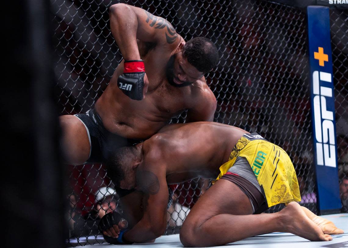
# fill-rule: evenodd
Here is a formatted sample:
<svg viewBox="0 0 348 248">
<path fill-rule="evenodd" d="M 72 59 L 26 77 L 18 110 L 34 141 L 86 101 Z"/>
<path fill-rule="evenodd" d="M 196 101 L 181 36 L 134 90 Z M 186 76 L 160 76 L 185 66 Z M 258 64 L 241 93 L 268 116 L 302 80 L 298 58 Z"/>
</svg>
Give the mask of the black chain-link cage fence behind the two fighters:
<svg viewBox="0 0 348 248">
<path fill-rule="evenodd" d="M 166 18 L 185 40 L 204 36 L 221 57 L 206 75 L 217 99 L 214 121 L 257 132 L 290 155 L 298 174 L 301 205 L 317 213 L 306 15 L 302 10 L 267 1 L 121 1 Z M 110 32 L 110 0 L 51 0 L 54 13 L 55 73 L 60 113 L 84 113 L 103 93 L 122 56 Z M 342 211 L 347 212 L 348 171 L 348 15 L 331 10 L 338 163 Z M 173 118 L 184 122 L 185 113 Z M 116 208 L 117 199 L 103 187 L 112 184 L 101 164 L 69 166 L 69 245 L 97 239 L 98 210 Z M 204 179 L 185 182 L 168 209 L 166 234 L 178 233 L 199 196 L 210 186 Z M 96 201 L 103 193 L 104 206 Z M 111 198 L 110 198 L 111 196 Z M 114 203 L 112 203 L 114 202 Z M 99 203 L 99 204 L 98 204 Z M 113 205 L 116 204 L 116 205 Z M 277 205 L 268 213 L 279 211 Z"/>
</svg>

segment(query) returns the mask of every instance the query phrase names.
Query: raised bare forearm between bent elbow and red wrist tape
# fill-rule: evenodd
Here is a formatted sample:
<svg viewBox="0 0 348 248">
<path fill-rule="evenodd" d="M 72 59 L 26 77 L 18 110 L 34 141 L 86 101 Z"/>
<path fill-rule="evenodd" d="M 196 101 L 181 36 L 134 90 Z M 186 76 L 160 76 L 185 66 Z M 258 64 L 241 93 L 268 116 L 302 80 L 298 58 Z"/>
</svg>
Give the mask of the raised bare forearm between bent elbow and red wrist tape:
<svg viewBox="0 0 348 248">
<path fill-rule="evenodd" d="M 110 7 L 110 29 L 124 59 L 139 60 L 140 54 L 136 42 L 138 28 L 137 15 L 125 4 Z"/>
</svg>

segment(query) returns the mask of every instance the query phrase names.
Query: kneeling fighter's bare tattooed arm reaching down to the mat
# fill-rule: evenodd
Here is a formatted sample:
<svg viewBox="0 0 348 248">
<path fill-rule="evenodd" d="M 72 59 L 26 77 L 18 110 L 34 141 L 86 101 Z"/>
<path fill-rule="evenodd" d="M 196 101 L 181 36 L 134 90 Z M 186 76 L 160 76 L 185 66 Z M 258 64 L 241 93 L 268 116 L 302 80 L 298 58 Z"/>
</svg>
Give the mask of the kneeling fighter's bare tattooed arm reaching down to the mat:
<svg viewBox="0 0 348 248">
<path fill-rule="evenodd" d="M 143 217 L 134 227 L 124 234 L 131 242 L 144 242 L 162 235 L 166 229 L 166 208 L 168 187 L 165 171 L 160 166 L 137 172 L 137 187 L 144 193 Z"/>
</svg>

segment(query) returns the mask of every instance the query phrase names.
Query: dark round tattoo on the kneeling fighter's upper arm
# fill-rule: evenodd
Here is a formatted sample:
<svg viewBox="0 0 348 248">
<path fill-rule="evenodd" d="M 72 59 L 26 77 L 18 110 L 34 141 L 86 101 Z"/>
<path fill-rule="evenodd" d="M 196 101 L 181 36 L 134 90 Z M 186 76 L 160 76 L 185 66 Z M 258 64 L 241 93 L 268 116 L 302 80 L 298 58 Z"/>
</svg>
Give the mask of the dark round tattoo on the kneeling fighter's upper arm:
<svg viewBox="0 0 348 248">
<path fill-rule="evenodd" d="M 137 185 L 145 194 L 157 194 L 159 191 L 158 177 L 147 170 L 138 170 L 136 175 Z"/>
</svg>

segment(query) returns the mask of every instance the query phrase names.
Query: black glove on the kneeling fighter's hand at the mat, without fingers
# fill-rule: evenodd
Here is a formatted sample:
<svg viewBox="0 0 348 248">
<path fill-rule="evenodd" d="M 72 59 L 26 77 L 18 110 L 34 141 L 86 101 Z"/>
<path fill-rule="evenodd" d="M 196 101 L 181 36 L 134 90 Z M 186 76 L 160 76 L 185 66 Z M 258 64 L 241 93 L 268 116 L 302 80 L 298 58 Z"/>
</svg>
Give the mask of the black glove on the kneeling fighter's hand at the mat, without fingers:
<svg viewBox="0 0 348 248">
<path fill-rule="evenodd" d="M 123 234 L 128 231 L 128 229 L 122 229 L 120 230 L 120 234 L 118 234 L 118 238 L 112 238 L 107 235 L 104 235 L 103 231 L 109 230 L 113 225 L 118 225 L 118 223 L 124 218 L 122 218 L 122 215 L 117 213 L 116 211 L 112 213 L 105 214 L 103 218 L 100 220 L 98 229 L 103 234 L 103 237 L 106 242 L 118 245 L 118 244 L 126 244 L 130 245 L 133 242 L 129 242 L 125 239 L 123 239 Z"/>
</svg>

